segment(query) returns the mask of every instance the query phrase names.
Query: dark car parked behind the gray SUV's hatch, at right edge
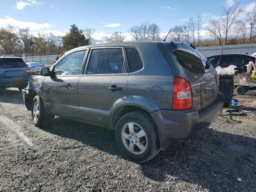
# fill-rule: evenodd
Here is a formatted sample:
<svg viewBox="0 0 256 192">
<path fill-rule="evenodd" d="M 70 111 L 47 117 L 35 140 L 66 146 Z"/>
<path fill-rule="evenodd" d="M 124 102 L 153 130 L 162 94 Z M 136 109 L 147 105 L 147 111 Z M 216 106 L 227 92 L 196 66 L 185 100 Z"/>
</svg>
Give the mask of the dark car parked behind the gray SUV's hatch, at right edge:
<svg viewBox="0 0 256 192">
<path fill-rule="evenodd" d="M 216 68 L 220 66 L 222 68 L 228 67 L 230 65 L 235 65 L 238 72 L 246 72 L 247 65 L 250 61 L 256 62 L 256 56 L 250 56 L 248 54 L 221 54 L 221 55 L 213 55 L 208 57 L 211 60 L 212 65 Z M 243 67 L 244 66 L 244 67 Z"/>
</svg>

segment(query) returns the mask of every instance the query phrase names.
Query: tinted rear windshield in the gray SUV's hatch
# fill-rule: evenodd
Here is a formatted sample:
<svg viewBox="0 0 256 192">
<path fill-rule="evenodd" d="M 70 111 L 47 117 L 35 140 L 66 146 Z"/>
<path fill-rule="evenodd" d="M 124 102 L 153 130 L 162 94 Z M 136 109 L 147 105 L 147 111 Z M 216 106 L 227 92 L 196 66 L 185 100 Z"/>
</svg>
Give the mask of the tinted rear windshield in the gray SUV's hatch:
<svg viewBox="0 0 256 192">
<path fill-rule="evenodd" d="M 186 44 L 176 45 L 176 49 L 172 45 L 168 45 L 168 48 L 172 51 L 182 67 L 193 73 L 206 73 L 214 70 L 212 66 L 207 70 L 205 69 L 207 59 L 197 49 L 193 49 L 191 46 Z"/>
</svg>

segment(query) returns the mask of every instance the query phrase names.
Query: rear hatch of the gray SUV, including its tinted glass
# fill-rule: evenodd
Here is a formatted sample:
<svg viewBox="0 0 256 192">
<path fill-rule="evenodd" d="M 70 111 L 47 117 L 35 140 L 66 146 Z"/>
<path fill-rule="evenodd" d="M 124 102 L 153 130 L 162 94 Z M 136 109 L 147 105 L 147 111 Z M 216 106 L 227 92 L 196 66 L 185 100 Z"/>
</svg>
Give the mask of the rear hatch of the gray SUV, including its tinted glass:
<svg viewBox="0 0 256 192">
<path fill-rule="evenodd" d="M 190 83 L 192 108 L 200 110 L 214 102 L 219 89 L 218 74 L 214 66 L 205 69 L 207 59 L 194 46 L 172 42 L 167 47 L 169 51 L 167 59 L 171 59 L 170 66 L 174 75 Z"/>
</svg>

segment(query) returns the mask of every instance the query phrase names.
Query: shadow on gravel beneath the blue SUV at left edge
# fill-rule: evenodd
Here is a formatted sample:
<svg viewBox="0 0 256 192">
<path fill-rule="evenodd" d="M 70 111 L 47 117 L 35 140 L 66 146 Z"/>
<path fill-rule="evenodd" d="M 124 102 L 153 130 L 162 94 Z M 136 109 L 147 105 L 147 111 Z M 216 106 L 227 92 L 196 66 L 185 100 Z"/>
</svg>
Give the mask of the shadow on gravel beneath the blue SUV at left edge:
<svg viewBox="0 0 256 192">
<path fill-rule="evenodd" d="M 12 103 L 12 104 L 24 104 L 22 93 L 18 90 L 18 88 L 1 89 L 0 102 Z"/>
</svg>

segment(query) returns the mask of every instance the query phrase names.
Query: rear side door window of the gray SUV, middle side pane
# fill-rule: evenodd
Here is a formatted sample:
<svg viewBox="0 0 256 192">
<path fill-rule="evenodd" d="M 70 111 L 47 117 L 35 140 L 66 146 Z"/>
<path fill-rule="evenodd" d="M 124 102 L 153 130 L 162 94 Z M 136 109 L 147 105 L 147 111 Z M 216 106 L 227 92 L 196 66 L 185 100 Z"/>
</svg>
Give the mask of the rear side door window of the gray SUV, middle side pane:
<svg viewBox="0 0 256 192">
<path fill-rule="evenodd" d="M 87 74 L 119 74 L 124 66 L 122 48 L 93 49 L 90 54 Z"/>
</svg>

